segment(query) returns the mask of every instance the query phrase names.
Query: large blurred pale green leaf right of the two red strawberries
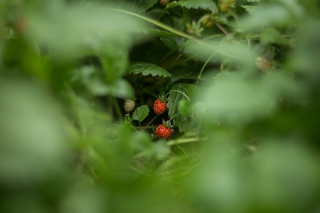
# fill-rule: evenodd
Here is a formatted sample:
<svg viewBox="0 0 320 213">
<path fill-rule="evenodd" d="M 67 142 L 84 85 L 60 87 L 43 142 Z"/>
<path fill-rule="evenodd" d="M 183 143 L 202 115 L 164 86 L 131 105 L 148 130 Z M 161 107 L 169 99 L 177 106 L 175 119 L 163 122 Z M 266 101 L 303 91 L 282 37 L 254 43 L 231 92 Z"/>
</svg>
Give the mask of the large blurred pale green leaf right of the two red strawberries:
<svg viewBox="0 0 320 213">
<path fill-rule="evenodd" d="M 248 80 L 239 73 L 221 72 L 199 94 L 197 107 L 202 121 L 243 124 L 270 115 L 280 95 L 302 95 L 303 89 L 290 76 L 270 72 L 261 79 Z"/>
</svg>

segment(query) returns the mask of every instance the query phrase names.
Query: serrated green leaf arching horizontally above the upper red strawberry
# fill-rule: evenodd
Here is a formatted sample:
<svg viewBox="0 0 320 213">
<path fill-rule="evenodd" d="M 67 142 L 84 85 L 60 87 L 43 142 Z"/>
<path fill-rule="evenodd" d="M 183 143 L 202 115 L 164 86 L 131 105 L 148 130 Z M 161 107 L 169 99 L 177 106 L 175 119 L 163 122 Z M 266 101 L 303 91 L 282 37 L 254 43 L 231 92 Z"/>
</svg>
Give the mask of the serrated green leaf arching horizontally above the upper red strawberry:
<svg viewBox="0 0 320 213">
<path fill-rule="evenodd" d="M 163 69 L 160 66 L 157 66 L 152 63 L 146 62 L 135 62 L 132 63 L 129 67 L 129 73 L 142 73 L 143 76 L 151 74 L 152 76 L 163 76 L 163 77 L 171 77 L 172 74 Z"/>
</svg>

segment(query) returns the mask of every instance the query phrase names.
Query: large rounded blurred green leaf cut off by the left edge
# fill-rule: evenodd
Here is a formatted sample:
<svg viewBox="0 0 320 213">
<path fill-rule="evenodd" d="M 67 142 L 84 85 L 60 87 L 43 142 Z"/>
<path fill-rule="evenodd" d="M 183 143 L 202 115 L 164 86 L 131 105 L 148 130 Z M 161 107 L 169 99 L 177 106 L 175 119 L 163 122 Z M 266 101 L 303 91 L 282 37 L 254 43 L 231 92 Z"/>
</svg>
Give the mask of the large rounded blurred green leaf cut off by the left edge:
<svg viewBox="0 0 320 213">
<path fill-rule="evenodd" d="M 34 185 L 62 165 L 68 123 L 61 111 L 45 88 L 24 80 L 0 79 L 2 186 Z"/>
</svg>

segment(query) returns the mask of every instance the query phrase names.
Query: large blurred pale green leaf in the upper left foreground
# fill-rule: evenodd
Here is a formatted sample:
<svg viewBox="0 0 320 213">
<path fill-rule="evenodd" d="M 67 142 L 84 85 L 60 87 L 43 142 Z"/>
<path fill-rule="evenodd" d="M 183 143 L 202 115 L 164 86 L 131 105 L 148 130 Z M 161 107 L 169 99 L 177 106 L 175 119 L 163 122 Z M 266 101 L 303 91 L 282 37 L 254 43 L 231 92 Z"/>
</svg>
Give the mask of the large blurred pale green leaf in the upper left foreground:
<svg viewBox="0 0 320 213">
<path fill-rule="evenodd" d="M 24 17 L 26 37 L 60 60 L 110 52 L 110 46 L 128 46 L 133 39 L 129 33 L 143 25 L 128 14 L 107 9 L 108 5 L 60 3 L 34 4 L 27 7 Z"/>
</svg>

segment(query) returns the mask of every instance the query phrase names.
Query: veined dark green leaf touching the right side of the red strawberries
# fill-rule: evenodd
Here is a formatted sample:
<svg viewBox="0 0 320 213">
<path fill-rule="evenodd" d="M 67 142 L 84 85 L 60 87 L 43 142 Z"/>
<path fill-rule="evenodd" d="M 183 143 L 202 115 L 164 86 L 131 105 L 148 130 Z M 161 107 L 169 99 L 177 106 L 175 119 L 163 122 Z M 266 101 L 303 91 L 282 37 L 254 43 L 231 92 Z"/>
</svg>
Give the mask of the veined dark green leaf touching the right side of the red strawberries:
<svg viewBox="0 0 320 213">
<path fill-rule="evenodd" d="M 171 90 L 179 90 L 184 94 L 188 94 L 187 88 L 191 86 L 190 84 L 173 84 Z M 187 98 L 178 91 L 171 91 L 168 96 L 167 108 L 169 109 L 168 115 L 173 118 L 173 125 L 178 126 L 180 132 L 186 132 L 194 128 L 195 123 L 191 116 L 177 114 L 179 112 L 179 102 L 181 100 L 187 100 Z M 177 115 L 176 115 L 177 114 Z"/>
</svg>

